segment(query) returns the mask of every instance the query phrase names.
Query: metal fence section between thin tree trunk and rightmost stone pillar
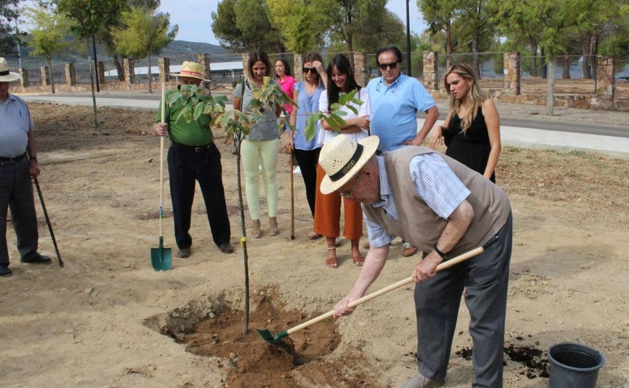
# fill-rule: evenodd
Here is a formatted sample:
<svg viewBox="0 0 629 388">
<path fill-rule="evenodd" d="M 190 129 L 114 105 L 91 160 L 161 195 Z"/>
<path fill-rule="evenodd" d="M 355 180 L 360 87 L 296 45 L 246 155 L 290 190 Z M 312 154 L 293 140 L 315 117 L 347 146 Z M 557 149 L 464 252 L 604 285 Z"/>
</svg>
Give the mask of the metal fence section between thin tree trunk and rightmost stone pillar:
<svg viewBox="0 0 629 388">
<path fill-rule="evenodd" d="M 596 55 L 560 55 L 555 62 L 555 93 L 596 92 Z"/>
</svg>

